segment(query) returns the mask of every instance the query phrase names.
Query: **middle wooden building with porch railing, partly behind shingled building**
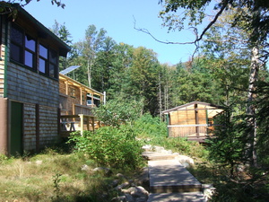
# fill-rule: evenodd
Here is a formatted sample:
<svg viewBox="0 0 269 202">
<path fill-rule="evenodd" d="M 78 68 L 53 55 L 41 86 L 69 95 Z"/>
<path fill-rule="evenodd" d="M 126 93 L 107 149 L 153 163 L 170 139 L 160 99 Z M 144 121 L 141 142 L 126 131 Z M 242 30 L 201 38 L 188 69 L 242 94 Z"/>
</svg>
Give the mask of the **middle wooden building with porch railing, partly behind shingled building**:
<svg viewBox="0 0 269 202">
<path fill-rule="evenodd" d="M 104 101 L 104 94 L 97 92 L 74 79 L 59 74 L 59 96 L 61 109 L 61 136 L 71 132 L 94 130 L 100 127 L 92 110 Z"/>
</svg>

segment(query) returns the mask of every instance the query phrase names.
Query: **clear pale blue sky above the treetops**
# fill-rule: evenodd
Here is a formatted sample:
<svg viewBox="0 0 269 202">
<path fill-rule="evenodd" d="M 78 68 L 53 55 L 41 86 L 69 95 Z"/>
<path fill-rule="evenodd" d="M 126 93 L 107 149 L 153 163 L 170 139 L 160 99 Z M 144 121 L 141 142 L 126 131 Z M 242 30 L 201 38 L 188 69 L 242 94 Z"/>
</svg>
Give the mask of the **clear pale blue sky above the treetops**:
<svg viewBox="0 0 269 202">
<path fill-rule="evenodd" d="M 62 0 L 65 9 L 52 5 L 50 0 L 33 0 L 24 9 L 44 26 L 52 28 L 56 22 L 64 24 L 72 35 L 73 42 L 84 39 L 89 25 L 97 30 L 103 28 L 107 36 L 117 43 L 123 42 L 134 48 L 152 49 L 161 63 L 176 65 L 186 62 L 194 52 L 194 46 L 162 44 L 148 34 L 134 29 L 147 29 L 162 41 L 186 42 L 194 38 L 191 31 L 168 33 L 163 27 L 159 0 Z"/>
</svg>

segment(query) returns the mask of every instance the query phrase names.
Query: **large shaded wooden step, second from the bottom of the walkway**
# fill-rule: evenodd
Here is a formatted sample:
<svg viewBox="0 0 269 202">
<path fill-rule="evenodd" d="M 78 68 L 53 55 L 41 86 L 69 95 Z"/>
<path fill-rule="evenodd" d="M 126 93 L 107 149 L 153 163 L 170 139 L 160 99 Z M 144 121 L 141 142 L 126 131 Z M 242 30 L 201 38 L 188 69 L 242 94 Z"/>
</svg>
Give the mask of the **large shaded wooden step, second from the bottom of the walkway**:
<svg viewBox="0 0 269 202">
<path fill-rule="evenodd" d="M 202 184 L 176 160 L 149 161 L 151 193 L 201 191 Z"/>
</svg>

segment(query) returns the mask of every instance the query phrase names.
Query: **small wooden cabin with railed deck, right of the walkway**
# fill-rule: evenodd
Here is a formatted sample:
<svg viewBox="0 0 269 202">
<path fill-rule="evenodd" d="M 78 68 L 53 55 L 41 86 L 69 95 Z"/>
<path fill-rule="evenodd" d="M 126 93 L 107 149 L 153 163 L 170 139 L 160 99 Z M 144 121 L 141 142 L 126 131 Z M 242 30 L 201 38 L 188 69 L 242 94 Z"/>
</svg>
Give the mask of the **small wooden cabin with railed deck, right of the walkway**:
<svg viewBox="0 0 269 202">
<path fill-rule="evenodd" d="M 214 118 L 222 112 L 221 107 L 202 101 L 193 101 L 162 111 L 167 117 L 169 136 L 187 137 L 188 140 L 199 142 L 212 135 L 217 126 Z"/>
</svg>

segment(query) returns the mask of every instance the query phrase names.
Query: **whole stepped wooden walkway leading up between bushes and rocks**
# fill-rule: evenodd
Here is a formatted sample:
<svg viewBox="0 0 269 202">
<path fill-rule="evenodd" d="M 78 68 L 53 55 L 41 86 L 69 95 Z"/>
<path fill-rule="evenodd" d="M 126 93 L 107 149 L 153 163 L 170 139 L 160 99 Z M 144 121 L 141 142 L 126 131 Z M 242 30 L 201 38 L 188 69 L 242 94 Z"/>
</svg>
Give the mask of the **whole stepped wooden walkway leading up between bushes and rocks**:
<svg viewBox="0 0 269 202">
<path fill-rule="evenodd" d="M 204 202 L 202 184 L 174 160 L 173 154 L 147 152 L 150 196 L 148 202 Z M 164 160 L 161 160 L 164 159 Z"/>
</svg>

